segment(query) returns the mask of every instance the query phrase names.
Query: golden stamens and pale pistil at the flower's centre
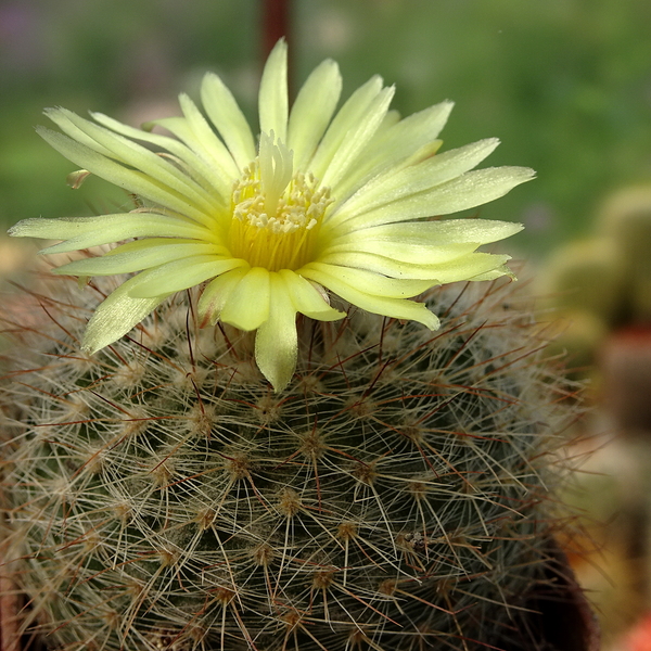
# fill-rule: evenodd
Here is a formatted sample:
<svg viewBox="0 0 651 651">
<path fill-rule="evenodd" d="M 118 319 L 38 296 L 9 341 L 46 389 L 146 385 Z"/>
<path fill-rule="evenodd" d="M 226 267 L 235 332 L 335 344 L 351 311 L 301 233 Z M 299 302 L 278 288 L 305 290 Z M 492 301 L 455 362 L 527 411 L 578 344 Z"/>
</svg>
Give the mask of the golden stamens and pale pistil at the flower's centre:
<svg viewBox="0 0 651 651">
<path fill-rule="evenodd" d="M 252 267 L 298 269 L 311 259 L 330 189 L 293 169 L 293 152 L 260 135 L 257 158 L 233 186 L 230 252 Z"/>
</svg>

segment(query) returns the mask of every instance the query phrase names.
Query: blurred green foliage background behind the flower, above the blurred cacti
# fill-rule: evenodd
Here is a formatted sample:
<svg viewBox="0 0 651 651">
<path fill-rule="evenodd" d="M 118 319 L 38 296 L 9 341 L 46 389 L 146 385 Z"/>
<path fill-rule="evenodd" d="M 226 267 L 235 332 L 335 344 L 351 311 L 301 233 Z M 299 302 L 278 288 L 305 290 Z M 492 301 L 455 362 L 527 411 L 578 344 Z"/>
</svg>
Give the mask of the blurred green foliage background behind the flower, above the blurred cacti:
<svg viewBox="0 0 651 651">
<path fill-rule="evenodd" d="M 33 130 L 42 107 L 138 125 L 177 114 L 213 69 L 254 119 L 261 29 L 255 0 L 0 2 L 0 225 L 125 203 L 97 179 L 65 186 L 73 166 Z M 290 40 L 294 88 L 332 56 L 344 94 L 380 73 L 404 114 L 452 99 L 444 148 L 497 136 L 488 165 L 534 167 L 481 208 L 527 226 L 512 241 L 524 255 L 587 233 L 609 191 L 651 180 L 649 0 L 295 0 Z"/>
</svg>

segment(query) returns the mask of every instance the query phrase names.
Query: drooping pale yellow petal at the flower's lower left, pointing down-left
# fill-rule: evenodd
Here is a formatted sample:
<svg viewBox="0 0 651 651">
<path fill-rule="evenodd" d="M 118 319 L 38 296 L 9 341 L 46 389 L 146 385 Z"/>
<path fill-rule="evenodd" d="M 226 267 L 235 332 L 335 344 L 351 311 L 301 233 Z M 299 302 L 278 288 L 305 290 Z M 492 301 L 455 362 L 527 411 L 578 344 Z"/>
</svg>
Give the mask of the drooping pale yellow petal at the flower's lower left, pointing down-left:
<svg viewBox="0 0 651 651">
<path fill-rule="evenodd" d="M 152 298 L 133 298 L 129 295 L 131 283 L 138 280 L 131 278 L 108 295 L 94 310 L 88 322 L 81 348 L 92 355 L 101 348 L 111 345 L 131 328 L 138 326 L 152 312 L 167 295 Z"/>
</svg>

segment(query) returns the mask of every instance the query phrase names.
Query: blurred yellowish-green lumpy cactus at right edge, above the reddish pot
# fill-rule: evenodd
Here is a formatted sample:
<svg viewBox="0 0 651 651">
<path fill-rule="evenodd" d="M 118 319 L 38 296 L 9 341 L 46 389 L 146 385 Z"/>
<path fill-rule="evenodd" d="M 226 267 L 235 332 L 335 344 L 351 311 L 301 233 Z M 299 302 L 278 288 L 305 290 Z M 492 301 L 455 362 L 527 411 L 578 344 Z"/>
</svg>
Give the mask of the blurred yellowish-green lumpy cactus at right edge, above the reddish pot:
<svg viewBox="0 0 651 651">
<path fill-rule="evenodd" d="M 651 322 L 651 187 L 621 190 L 603 204 L 596 232 L 554 252 L 539 293 L 564 328 L 554 341 L 584 372 L 608 334 Z"/>
</svg>

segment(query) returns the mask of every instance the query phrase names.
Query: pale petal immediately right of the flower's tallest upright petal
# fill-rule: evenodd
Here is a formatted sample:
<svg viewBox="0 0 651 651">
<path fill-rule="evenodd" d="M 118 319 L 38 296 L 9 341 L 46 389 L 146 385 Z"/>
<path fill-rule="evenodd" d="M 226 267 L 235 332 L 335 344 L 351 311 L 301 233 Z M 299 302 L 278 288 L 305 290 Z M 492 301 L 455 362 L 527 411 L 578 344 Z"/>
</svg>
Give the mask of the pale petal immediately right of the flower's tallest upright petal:
<svg viewBox="0 0 651 651">
<path fill-rule="evenodd" d="M 306 170 L 323 136 L 342 92 L 342 77 L 330 59 L 318 65 L 298 91 L 290 113 L 288 148 L 294 151 L 294 168 Z"/>
</svg>

